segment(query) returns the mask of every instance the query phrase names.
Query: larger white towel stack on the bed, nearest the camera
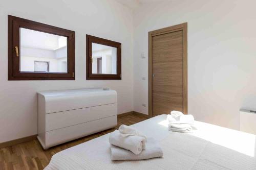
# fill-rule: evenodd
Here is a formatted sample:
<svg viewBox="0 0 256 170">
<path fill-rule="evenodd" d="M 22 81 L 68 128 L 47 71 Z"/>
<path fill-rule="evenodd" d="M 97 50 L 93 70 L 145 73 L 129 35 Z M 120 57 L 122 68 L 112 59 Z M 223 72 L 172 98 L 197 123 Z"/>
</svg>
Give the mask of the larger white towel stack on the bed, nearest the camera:
<svg viewBox="0 0 256 170">
<path fill-rule="evenodd" d="M 147 138 L 136 129 L 121 125 L 110 134 L 112 160 L 142 160 L 162 157 L 163 152 L 154 138 Z"/>
</svg>

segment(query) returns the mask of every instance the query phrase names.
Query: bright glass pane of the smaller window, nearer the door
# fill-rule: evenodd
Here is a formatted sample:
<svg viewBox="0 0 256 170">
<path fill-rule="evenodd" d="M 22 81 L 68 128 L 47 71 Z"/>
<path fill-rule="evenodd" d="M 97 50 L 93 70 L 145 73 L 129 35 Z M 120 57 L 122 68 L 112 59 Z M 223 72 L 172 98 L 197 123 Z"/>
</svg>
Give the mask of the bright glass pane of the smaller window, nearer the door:
<svg viewBox="0 0 256 170">
<path fill-rule="evenodd" d="M 92 43 L 92 74 L 117 74 L 117 48 Z"/>
</svg>

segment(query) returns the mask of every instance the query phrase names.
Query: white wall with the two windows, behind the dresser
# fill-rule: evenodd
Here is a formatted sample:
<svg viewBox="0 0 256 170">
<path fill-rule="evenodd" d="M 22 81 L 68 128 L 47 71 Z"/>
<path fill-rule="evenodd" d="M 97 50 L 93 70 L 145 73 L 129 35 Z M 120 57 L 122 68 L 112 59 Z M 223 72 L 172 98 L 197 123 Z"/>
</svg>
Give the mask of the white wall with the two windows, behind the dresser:
<svg viewBox="0 0 256 170">
<path fill-rule="evenodd" d="M 75 31 L 76 80 L 8 81 L 8 14 Z M 133 110 L 130 9 L 112 0 L 2 0 L 0 30 L 0 142 L 37 134 L 36 92 L 41 90 L 109 87 L 117 90 L 118 113 Z M 86 80 L 86 34 L 122 43 L 122 80 Z"/>
</svg>

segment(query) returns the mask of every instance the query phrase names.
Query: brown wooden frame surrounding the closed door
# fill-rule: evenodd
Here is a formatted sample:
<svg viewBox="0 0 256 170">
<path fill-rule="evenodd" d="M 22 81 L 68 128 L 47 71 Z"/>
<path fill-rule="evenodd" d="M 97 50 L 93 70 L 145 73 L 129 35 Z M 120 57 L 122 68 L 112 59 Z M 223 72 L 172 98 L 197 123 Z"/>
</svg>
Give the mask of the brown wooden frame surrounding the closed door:
<svg viewBox="0 0 256 170">
<path fill-rule="evenodd" d="M 187 114 L 187 22 L 148 32 L 148 116 L 153 117 L 153 56 L 152 38 L 157 35 L 183 31 L 183 113 Z"/>
</svg>

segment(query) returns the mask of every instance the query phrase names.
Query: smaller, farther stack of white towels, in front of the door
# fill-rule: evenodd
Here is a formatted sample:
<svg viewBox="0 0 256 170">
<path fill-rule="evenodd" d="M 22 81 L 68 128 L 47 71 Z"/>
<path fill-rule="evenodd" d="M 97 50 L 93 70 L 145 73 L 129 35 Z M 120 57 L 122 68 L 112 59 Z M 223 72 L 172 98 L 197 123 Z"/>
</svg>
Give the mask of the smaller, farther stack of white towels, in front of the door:
<svg viewBox="0 0 256 170">
<path fill-rule="evenodd" d="M 194 116 L 191 114 L 184 115 L 180 111 L 172 111 L 167 115 L 168 129 L 175 132 L 192 133 L 194 125 Z"/>
</svg>

